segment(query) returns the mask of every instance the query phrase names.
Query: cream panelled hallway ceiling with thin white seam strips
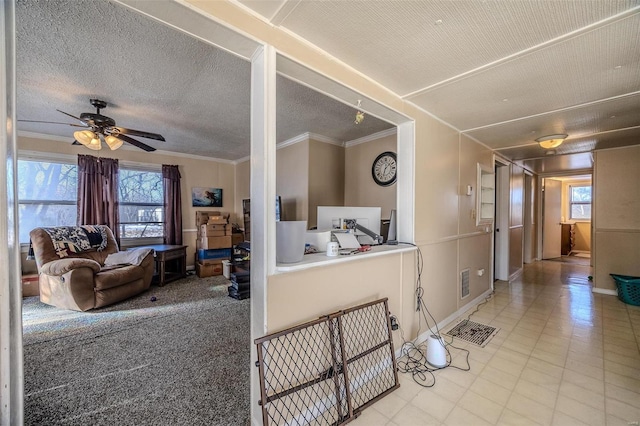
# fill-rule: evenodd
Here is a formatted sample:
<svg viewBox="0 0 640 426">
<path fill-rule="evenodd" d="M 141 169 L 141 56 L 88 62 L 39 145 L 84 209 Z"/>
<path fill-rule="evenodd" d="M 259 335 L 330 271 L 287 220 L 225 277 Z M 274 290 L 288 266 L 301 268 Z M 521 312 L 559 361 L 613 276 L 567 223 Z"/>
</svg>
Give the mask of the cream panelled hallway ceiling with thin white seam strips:
<svg viewBox="0 0 640 426">
<path fill-rule="evenodd" d="M 533 171 L 640 143 L 638 0 L 239 2 Z"/>
</svg>

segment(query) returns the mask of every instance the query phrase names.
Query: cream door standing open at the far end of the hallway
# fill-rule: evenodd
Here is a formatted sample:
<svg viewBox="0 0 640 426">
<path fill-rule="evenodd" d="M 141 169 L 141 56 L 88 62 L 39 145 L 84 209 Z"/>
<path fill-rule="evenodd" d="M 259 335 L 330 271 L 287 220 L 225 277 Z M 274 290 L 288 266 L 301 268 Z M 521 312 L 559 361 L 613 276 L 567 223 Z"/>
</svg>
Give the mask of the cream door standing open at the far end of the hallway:
<svg viewBox="0 0 640 426">
<path fill-rule="evenodd" d="M 562 182 L 544 180 L 544 210 L 542 211 L 542 258 L 560 257 L 562 225 Z"/>
</svg>

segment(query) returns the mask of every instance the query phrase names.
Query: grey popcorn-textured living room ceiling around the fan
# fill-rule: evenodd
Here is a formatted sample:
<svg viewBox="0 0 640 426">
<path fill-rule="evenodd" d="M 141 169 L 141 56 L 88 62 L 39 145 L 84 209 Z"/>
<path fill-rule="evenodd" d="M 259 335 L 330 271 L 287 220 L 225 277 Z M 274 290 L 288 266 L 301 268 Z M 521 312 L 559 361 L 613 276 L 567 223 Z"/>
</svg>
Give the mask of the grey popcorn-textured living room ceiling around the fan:
<svg viewBox="0 0 640 426">
<path fill-rule="evenodd" d="M 98 20 L 95 17 L 100 17 Z M 121 127 L 162 134 L 157 149 L 237 160 L 250 152 L 250 63 L 108 1 L 18 1 L 18 120 L 77 124 L 95 112 Z M 279 142 L 306 132 L 335 141 L 392 127 L 290 81 L 277 81 Z M 18 122 L 18 130 L 73 141 L 76 127 Z M 85 148 L 78 147 L 78 150 Z"/>
</svg>

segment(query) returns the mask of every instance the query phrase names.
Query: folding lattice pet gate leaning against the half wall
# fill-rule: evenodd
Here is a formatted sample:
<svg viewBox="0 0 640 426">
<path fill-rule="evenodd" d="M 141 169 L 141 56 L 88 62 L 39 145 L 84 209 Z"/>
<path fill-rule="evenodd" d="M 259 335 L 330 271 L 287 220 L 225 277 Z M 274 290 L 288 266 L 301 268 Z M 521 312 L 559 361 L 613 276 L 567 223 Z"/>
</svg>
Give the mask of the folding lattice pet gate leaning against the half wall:
<svg viewBox="0 0 640 426">
<path fill-rule="evenodd" d="M 255 344 L 264 426 L 344 424 L 399 386 L 386 298 Z"/>
</svg>

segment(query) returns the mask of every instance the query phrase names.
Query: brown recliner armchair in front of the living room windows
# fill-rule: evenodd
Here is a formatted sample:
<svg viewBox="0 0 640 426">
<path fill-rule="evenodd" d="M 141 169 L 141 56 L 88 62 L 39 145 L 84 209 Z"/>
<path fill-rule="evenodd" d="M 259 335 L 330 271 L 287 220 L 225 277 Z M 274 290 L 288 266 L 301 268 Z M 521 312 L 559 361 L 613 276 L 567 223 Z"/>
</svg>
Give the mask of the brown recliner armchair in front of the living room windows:
<svg viewBox="0 0 640 426">
<path fill-rule="evenodd" d="M 85 229 L 94 232 L 86 234 L 93 235 L 91 238 L 84 235 Z M 69 230 L 75 234 L 65 240 L 61 236 Z M 74 245 L 73 240 L 79 234 L 83 243 L 93 245 Z M 152 251 L 140 251 L 139 259 L 135 260 L 139 264 L 114 265 L 108 261 L 109 265 L 105 265 L 111 254 L 117 253 L 113 258 L 131 253 L 119 252 L 113 233 L 106 226 L 36 228 L 29 235 L 38 266 L 40 301 L 48 305 L 87 311 L 127 299 L 151 285 Z"/>
</svg>

